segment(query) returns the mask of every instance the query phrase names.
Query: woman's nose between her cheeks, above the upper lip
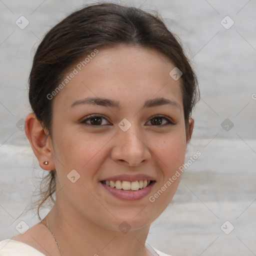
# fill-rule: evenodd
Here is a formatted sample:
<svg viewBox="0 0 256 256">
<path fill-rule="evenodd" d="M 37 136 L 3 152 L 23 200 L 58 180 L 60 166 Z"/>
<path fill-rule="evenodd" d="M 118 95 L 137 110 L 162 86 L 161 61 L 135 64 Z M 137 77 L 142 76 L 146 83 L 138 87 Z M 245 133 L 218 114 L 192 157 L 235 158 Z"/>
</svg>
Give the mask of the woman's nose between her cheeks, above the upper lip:
<svg viewBox="0 0 256 256">
<path fill-rule="evenodd" d="M 119 164 L 138 166 L 151 158 L 151 153 L 146 145 L 145 136 L 132 125 L 127 131 L 118 130 L 115 136 L 111 157 Z"/>
</svg>

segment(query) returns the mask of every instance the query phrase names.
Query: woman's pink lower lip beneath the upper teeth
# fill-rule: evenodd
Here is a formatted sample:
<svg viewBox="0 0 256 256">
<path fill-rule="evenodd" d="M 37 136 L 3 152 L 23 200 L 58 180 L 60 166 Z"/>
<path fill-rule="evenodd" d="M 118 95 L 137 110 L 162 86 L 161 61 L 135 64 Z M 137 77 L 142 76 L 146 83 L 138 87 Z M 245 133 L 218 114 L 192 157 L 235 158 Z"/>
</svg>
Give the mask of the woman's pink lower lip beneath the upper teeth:
<svg viewBox="0 0 256 256">
<path fill-rule="evenodd" d="M 122 200 L 139 200 L 148 195 L 155 181 L 151 182 L 148 186 L 138 190 L 122 190 L 114 187 L 107 186 L 101 182 L 99 182 L 108 192 L 110 192 L 113 196 L 122 199 Z"/>
</svg>

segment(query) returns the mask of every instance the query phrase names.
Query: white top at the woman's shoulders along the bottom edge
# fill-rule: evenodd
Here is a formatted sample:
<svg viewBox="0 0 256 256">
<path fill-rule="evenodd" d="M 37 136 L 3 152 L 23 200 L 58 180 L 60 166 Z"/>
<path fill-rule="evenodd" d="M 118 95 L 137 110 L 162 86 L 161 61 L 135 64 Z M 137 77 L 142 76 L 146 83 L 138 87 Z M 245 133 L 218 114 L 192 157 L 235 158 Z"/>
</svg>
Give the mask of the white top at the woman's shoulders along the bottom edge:
<svg viewBox="0 0 256 256">
<path fill-rule="evenodd" d="M 150 245 L 150 247 L 152 246 Z M 152 248 L 159 256 L 170 256 L 155 249 L 154 247 Z M 0 241 L 0 256 L 45 256 L 45 255 L 26 243 L 16 241 L 16 240 L 11 240 L 11 239 L 5 239 Z"/>
</svg>

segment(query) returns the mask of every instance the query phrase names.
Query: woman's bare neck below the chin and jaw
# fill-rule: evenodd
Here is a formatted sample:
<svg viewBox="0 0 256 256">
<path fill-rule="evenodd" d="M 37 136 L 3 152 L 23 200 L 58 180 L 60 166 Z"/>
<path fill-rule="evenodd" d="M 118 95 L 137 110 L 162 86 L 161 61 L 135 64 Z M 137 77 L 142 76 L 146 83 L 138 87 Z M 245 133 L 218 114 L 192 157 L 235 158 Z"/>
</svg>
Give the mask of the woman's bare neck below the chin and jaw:
<svg viewBox="0 0 256 256">
<path fill-rule="evenodd" d="M 61 256 L 154 255 L 145 246 L 150 224 L 123 233 L 103 227 L 77 211 L 74 213 L 72 205 L 61 210 L 57 199 L 45 220 L 55 235 Z"/>
</svg>

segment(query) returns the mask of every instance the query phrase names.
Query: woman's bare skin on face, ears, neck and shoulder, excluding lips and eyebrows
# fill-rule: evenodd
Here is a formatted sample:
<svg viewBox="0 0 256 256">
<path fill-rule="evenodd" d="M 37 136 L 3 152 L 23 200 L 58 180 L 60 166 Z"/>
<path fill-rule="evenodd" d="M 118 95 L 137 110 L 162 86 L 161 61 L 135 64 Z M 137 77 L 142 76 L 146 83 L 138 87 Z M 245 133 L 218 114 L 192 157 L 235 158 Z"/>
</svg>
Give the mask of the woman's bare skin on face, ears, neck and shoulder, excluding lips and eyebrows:
<svg viewBox="0 0 256 256">
<path fill-rule="evenodd" d="M 150 224 L 172 199 L 181 175 L 154 202 L 148 196 L 182 165 L 193 129 L 190 118 L 185 132 L 182 79 L 169 76 L 173 68 L 169 59 L 153 49 L 101 48 L 52 99 L 51 137 L 33 113 L 27 115 L 26 136 L 40 166 L 57 171 L 56 202 L 44 222 L 54 233 L 62 256 L 152 255 L 144 246 Z M 70 107 L 78 99 L 95 96 L 118 100 L 120 109 L 89 104 Z M 180 108 L 171 104 L 141 108 L 145 100 L 156 97 L 172 99 Z M 101 126 L 80 123 L 89 114 L 106 119 L 101 119 Z M 174 124 L 164 125 L 168 121 L 162 118 L 161 124 L 153 125 L 154 115 L 164 115 Z M 117 126 L 123 118 L 131 123 L 125 132 Z M 45 160 L 48 165 L 43 164 Z M 72 169 L 80 174 L 75 183 L 66 177 Z M 156 180 L 152 192 L 139 200 L 118 199 L 99 183 L 112 175 L 136 173 Z M 131 226 L 125 234 L 118 229 L 123 221 Z M 51 233 L 41 223 L 13 239 L 45 255 L 59 255 Z"/>
</svg>

